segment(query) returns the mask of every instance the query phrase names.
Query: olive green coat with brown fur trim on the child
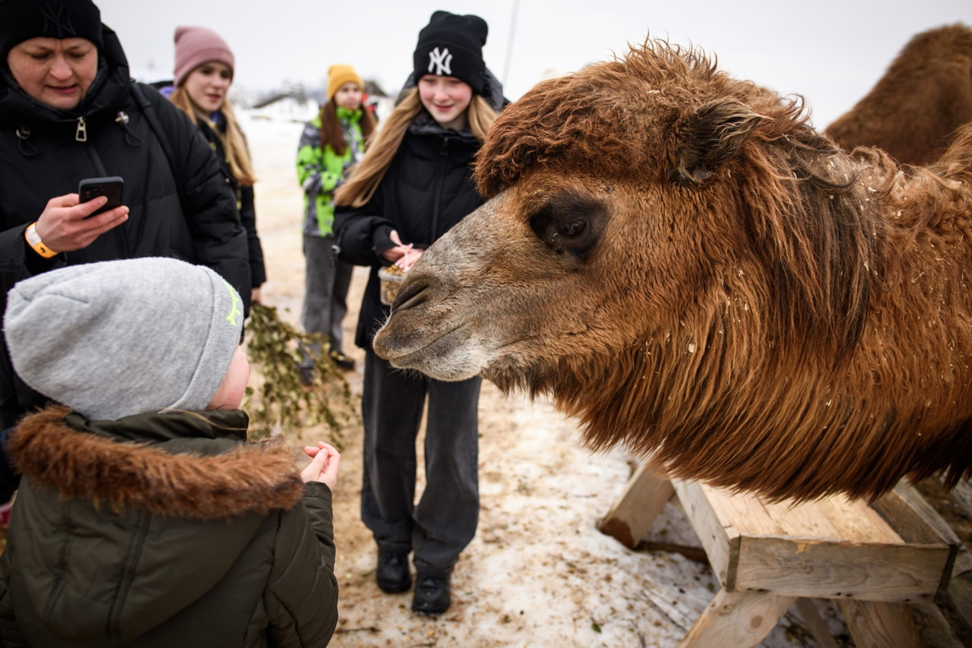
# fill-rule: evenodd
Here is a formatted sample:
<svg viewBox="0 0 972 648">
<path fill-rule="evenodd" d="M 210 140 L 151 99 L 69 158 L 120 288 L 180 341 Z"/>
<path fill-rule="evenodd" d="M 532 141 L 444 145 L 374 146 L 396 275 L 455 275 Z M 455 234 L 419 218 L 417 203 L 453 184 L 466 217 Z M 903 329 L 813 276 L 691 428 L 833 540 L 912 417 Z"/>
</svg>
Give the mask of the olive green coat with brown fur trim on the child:
<svg viewBox="0 0 972 648">
<path fill-rule="evenodd" d="M 0 558 L 4 646 L 325 646 L 330 489 L 246 414 L 27 417 Z"/>
</svg>

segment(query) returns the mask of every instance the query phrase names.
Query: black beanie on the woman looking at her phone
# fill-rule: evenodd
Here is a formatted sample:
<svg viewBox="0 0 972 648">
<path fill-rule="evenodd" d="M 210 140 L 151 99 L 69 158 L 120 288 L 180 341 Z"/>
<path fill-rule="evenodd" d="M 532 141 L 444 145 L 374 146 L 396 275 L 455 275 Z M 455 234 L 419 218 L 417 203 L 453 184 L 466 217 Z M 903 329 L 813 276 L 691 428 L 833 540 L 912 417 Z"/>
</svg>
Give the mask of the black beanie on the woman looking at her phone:
<svg viewBox="0 0 972 648">
<path fill-rule="evenodd" d="M 101 50 L 101 12 L 91 0 L 0 0 L 0 55 L 32 38 L 87 38 Z"/>
</svg>

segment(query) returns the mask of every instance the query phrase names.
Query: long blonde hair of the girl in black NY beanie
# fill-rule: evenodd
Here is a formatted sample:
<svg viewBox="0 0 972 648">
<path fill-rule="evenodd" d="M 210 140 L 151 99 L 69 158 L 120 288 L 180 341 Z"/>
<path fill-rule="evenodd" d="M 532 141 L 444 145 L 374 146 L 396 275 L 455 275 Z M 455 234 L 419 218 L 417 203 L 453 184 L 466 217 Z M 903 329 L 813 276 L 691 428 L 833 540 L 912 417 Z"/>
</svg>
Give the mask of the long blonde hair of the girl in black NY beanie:
<svg viewBox="0 0 972 648">
<path fill-rule="evenodd" d="M 421 112 L 419 89 L 411 87 L 405 90 L 395 110 L 375 131 L 367 153 L 364 153 L 364 157 L 355 166 L 348 181 L 334 191 L 335 205 L 362 207 L 371 199 L 391 166 L 395 153 L 399 151 L 408 124 Z M 469 132 L 482 142 L 496 119 L 496 111 L 481 96 L 473 94 L 466 109 L 466 119 L 469 122 Z"/>
</svg>

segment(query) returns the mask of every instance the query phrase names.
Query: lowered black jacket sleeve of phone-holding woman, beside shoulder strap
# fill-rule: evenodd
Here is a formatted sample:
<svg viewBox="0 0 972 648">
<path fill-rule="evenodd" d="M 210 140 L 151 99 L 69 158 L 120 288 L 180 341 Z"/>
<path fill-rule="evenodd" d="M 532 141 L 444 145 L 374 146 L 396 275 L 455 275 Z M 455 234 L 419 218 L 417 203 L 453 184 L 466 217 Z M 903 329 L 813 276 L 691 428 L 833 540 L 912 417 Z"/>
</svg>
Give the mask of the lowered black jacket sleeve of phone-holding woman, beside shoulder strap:
<svg viewBox="0 0 972 648">
<path fill-rule="evenodd" d="M 175 180 L 183 188 L 183 210 L 197 263 L 216 270 L 240 293 L 249 312 L 250 251 L 236 210 L 236 195 L 220 163 L 189 117 L 165 97 L 143 88 L 173 150 Z"/>
</svg>

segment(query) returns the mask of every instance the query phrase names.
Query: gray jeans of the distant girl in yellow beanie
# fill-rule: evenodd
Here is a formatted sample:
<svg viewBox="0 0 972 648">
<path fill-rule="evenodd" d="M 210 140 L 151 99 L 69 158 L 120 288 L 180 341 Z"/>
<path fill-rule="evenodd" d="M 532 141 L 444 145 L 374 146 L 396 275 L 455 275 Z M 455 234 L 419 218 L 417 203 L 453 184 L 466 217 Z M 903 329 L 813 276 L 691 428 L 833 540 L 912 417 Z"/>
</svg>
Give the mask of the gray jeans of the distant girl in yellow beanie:
<svg viewBox="0 0 972 648">
<path fill-rule="evenodd" d="M 330 348 L 343 349 L 344 316 L 348 312 L 348 286 L 354 266 L 338 260 L 331 250 L 333 236 L 303 235 L 304 301 L 300 324 L 305 332 L 324 333 L 330 337 Z"/>
</svg>

